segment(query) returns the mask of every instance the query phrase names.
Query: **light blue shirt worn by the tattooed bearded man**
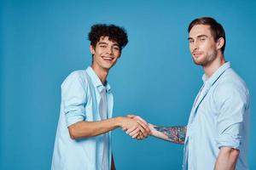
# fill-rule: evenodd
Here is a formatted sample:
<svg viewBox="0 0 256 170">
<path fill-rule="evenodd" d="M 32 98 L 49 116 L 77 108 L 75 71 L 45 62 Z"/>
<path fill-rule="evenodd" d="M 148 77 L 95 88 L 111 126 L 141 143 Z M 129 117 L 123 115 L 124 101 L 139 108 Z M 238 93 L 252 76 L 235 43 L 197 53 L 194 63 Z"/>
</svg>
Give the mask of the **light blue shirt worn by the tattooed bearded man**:
<svg viewBox="0 0 256 170">
<path fill-rule="evenodd" d="M 223 146 L 240 150 L 236 169 L 247 167 L 249 92 L 245 82 L 225 63 L 204 84 L 189 116 L 183 169 L 213 169 Z"/>
</svg>

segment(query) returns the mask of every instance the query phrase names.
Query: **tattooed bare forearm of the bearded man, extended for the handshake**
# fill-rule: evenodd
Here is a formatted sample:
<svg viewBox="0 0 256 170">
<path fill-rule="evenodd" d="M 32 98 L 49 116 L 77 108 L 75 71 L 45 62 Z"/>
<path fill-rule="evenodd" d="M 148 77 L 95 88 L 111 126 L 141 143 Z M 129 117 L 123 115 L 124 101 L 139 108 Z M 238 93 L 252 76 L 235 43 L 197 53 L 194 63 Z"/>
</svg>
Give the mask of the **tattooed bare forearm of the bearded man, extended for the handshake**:
<svg viewBox="0 0 256 170">
<path fill-rule="evenodd" d="M 151 124 L 149 127 L 154 137 L 176 144 L 184 144 L 187 127 L 157 127 Z"/>
</svg>

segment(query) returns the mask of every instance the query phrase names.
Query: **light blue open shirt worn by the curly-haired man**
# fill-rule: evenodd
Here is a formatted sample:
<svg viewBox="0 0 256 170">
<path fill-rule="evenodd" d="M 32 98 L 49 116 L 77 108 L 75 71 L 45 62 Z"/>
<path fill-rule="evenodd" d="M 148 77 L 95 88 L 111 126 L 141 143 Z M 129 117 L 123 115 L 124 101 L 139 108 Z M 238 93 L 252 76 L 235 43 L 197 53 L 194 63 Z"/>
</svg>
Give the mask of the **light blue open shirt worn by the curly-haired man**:
<svg viewBox="0 0 256 170">
<path fill-rule="evenodd" d="M 55 137 L 52 170 L 102 170 L 102 154 L 108 139 L 108 167 L 111 166 L 111 135 L 105 133 L 86 139 L 71 139 L 68 128 L 75 122 L 101 121 L 101 92 L 106 90 L 108 118 L 112 117 L 113 95 L 91 67 L 73 71 L 61 84 L 61 112 Z M 107 137 L 107 138 L 106 138 Z"/>
</svg>

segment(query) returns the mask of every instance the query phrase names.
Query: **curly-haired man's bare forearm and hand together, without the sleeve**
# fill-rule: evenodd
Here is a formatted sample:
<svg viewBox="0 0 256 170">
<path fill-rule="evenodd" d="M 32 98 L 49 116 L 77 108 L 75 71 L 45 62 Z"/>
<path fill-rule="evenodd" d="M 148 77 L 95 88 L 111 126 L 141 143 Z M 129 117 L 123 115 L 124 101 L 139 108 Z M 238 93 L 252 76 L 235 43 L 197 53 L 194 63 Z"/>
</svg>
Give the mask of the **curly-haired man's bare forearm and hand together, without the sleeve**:
<svg viewBox="0 0 256 170">
<path fill-rule="evenodd" d="M 76 122 L 68 127 L 68 131 L 72 139 L 81 139 L 108 133 L 117 127 L 125 129 L 138 128 L 145 136 L 147 136 L 147 133 L 150 131 L 148 127 L 143 125 L 143 122 L 122 116 L 99 122 Z"/>
</svg>

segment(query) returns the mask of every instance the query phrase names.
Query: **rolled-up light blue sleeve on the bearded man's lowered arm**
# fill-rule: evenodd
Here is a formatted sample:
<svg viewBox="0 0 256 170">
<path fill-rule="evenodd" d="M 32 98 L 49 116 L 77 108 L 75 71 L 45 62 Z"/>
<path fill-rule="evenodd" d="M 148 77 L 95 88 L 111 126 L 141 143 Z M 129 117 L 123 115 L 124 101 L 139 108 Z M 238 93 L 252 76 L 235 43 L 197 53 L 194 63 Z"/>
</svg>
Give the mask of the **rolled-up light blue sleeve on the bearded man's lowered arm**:
<svg viewBox="0 0 256 170">
<path fill-rule="evenodd" d="M 247 96 L 242 88 L 228 83 L 218 88 L 218 148 L 223 146 L 239 150 L 247 107 Z"/>
</svg>

